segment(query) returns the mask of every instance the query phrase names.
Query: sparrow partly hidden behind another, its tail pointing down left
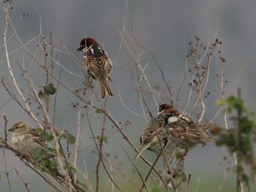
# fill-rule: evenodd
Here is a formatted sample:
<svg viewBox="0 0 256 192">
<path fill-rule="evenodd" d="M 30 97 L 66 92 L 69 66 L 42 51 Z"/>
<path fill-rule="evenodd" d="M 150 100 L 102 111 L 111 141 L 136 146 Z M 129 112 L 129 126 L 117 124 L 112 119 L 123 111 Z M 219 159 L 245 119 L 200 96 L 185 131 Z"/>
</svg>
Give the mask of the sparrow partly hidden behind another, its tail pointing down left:
<svg viewBox="0 0 256 192">
<path fill-rule="evenodd" d="M 151 118 L 151 120 L 148 122 L 146 128 L 143 130 L 140 136 L 140 150 L 138 151 L 137 155 L 134 158 L 134 162 L 136 162 L 140 156 L 140 154 L 145 150 L 148 149 L 150 151 L 153 151 L 155 153 L 161 153 L 162 148 L 159 143 L 157 133 L 159 136 L 159 139 L 161 140 L 162 146 L 166 145 L 165 150 L 172 148 L 172 144 L 168 143 L 167 137 L 164 134 L 163 130 L 163 124 L 164 124 L 164 118 L 161 117 L 162 114 L 164 114 L 164 111 L 166 109 L 172 108 L 169 104 L 162 104 L 160 105 L 158 109 L 157 116 L 155 118 Z M 157 133 L 156 133 L 157 131 Z M 167 144 L 168 143 L 168 144 Z"/>
</svg>

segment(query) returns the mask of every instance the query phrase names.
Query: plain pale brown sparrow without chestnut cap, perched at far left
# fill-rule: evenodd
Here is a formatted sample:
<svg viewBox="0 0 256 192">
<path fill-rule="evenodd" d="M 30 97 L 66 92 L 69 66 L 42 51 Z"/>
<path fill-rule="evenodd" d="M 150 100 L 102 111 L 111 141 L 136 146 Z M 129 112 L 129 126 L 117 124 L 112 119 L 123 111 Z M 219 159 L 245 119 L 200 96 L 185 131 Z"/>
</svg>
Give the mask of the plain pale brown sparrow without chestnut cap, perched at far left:
<svg viewBox="0 0 256 192">
<path fill-rule="evenodd" d="M 46 145 L 40 139 L 40 132 L 24 121 L 16 122 L 8 131 L 12 132 L 11 146 L 28 155 L 33 154 L 35 148 Z"/>
</svg>

